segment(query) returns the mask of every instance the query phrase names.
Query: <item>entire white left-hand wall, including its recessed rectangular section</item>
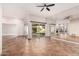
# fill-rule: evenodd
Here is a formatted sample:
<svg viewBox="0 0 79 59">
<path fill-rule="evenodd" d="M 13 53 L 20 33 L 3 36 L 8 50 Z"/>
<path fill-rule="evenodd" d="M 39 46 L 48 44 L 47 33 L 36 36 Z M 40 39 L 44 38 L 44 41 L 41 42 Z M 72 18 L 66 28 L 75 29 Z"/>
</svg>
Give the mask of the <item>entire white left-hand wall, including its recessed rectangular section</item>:
<svg viewBox="0 0 79 59">
<path fill-rule="evenodd" d="M 24 23 L 20 19 L 3 19 L 3 35 L 23 35 Z"/>
</svg>

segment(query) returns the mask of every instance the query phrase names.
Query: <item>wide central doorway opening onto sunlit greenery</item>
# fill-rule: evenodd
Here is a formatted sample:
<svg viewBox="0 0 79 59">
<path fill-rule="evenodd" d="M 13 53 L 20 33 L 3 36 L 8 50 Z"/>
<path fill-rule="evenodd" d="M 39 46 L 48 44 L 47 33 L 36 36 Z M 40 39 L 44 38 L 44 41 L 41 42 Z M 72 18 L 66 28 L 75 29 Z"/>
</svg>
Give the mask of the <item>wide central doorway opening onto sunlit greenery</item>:
<svg viewBox="0 0 79 59">
<path fill-rule="evenodd" d="M 32 37 L 44 37 L 45 36 L 45 24 L 32 23 Z"/>
</svg>

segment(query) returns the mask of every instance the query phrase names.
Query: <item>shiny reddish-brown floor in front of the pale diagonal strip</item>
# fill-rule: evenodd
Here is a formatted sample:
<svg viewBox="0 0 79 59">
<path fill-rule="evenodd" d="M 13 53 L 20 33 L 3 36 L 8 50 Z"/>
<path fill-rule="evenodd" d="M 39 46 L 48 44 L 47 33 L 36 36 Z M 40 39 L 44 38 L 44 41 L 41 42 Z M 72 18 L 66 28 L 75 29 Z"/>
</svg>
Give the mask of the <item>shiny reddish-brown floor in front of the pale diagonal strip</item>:
<svg viewBox="0 0 79 59">
<path fill-rule="evenodd" d="M 56 39 L 3 37 L 3 56 L 79 56 L 79 44 Z"/>
</svg>

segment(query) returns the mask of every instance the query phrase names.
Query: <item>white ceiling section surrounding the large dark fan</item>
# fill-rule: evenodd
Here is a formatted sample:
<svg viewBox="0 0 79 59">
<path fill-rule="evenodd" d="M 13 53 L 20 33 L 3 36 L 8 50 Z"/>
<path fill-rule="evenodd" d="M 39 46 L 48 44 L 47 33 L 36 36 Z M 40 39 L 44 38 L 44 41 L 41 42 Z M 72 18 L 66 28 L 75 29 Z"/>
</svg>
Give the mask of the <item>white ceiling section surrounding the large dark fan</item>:
<svg viewBox="0 0 79 59">
<path fill-rule="evenodd" d="M 51 11 L 43 10 L 40 12 L 41 8 L 36 7 L 42 3 L 6 3 L 2 4 L 3 15 L 11 17 L 26 17 L 26 15 L 36 15 L 42 17 L 48 17 L 53 14 L 60 13 L 64 10 L 70 9 L 72 7 L 78 6 L 78 3 L 55 3 L 55 6 L 50 7 Z"/>
</svg>

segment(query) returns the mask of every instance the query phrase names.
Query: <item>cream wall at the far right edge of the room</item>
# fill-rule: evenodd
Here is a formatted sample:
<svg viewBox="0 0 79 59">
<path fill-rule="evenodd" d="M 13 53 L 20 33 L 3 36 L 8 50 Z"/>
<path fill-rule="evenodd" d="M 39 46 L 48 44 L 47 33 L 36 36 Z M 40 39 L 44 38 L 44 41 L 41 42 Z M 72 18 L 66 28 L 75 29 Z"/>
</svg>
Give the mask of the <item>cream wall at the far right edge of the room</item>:
<svg viewBox="0 0 79 59">
<path fill-rule="evenodd" d="M 79 20 L 71 21 L 68 24 L 68 32 L 70 35 L 75 34 L 76 36 L 79 36 Z"/>
</svg>

